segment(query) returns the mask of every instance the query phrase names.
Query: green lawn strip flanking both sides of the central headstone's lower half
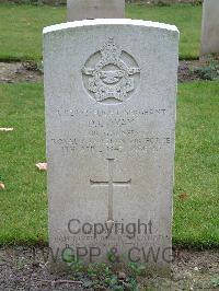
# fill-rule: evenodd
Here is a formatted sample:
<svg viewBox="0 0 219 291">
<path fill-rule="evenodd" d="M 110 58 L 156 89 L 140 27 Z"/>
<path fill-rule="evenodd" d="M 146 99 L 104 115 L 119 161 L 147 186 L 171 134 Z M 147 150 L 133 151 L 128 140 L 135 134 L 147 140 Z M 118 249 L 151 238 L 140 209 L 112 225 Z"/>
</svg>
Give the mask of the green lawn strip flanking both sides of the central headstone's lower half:
<svg viewBox="0 0 219 291">
<path fill-rule="evenodd" d="M 219 246 L 217 82 L 181 84 L 177 103 L 173 242 Z M 0 85 L 0 244 L 47 242 L 42 84 Z"/>
</svg>

